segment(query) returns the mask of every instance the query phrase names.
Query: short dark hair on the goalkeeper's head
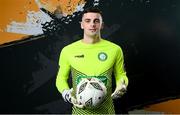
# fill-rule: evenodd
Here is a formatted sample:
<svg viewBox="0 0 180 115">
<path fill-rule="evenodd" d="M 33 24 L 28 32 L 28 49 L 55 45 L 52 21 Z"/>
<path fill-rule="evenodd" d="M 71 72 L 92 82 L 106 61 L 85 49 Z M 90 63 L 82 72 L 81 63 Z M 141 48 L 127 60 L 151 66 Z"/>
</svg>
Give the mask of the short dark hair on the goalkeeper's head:
<svg viewBox="0 0 180 115">
<path fill-rule="evenodd" d="M 89 7 L 89 8 L 85 9 L 85 10 L 82 12 L 81 18 L 83 17 L 84 14 L 89 13 L 89 12 L 99 13 L 99 14 L 102 16 L 102 11 L 101 11 L 99 8 L 97 8 L 97 7 Z"/>
</svg>

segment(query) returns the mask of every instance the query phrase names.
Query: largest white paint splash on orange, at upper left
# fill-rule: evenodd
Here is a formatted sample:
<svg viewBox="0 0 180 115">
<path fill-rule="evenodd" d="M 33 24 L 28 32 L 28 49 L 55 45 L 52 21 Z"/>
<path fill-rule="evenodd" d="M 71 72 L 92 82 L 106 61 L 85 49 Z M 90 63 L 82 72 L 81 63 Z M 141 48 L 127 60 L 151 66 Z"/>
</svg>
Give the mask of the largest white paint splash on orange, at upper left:
<svg viewBox="0 0 180 115">
<path fill-rule="evenodd" d="M 27 35 L 43 34 L 41 24 L 51 20 L 52 18 L 43 11 L 28 11 L 25 23 L 12 21 L 10 25 L 7 25 L 6 31 Z"/>
</svg>

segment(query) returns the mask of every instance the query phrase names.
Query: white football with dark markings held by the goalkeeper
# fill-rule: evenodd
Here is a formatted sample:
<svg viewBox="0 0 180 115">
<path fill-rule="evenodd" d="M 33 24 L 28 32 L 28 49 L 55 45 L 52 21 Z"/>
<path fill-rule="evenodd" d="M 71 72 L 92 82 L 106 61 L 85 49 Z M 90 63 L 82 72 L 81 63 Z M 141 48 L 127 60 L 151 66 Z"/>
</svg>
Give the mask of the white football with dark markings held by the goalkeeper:
<svg viewBox="0 0 180 115">
<path fill-rule="evenodd" d="M 94 108 L 100 105 L 106 94 L 106 86 L 98 78 L 83 78 L 77 85 L 77 102 L 87 108 Z"/>
</svg>

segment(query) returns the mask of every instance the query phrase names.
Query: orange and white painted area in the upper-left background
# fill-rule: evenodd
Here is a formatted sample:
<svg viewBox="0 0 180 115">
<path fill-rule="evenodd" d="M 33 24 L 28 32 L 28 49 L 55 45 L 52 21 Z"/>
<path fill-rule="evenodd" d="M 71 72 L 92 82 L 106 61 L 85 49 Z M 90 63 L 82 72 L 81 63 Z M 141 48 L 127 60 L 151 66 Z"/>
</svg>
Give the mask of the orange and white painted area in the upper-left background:
<svg viewBox="0 0 180 115">
<path fill-rule="evenodd" d="M 98 2 L 95 0 L 93 5 Z M 0 44 L 43 34 L 42 24 L 54 20 L 52 15 L 58 19 L 75 16 L 75 12 L 83 11 L 85 3 L 84 0 L 1 0 Z"/>
</svg>

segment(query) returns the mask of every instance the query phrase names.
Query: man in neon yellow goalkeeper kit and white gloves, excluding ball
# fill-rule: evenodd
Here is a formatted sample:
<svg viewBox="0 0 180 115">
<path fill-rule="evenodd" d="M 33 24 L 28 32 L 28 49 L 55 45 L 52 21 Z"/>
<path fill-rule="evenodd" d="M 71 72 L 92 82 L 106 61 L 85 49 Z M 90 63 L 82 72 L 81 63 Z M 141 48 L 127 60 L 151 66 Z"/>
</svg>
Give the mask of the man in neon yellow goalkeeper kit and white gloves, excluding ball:
<svg viewBox="0 0 180 115">
<path fill-rule="evenodd" d="M 113 99 L 126 91 L 128 78 L 124 70 L 123 52 L 120 46 L 101 38 L 103 20 L 97 8 L 84 10 L 80 22 L 83 39 L 64 47 L 60 54 L 60 69 L 56 86 L 66 102 L 72 103 L 73 114 L 115 114 Z M 72 88 L 68 85 L 72 74 Z M 116 88 L 112 93 L 112 73 Z M 107 88 L 106 98 L 97 108 L 86 108 L 76 100 L 76 87 L 81 78 L 99 78 Z"/>
</svg>

